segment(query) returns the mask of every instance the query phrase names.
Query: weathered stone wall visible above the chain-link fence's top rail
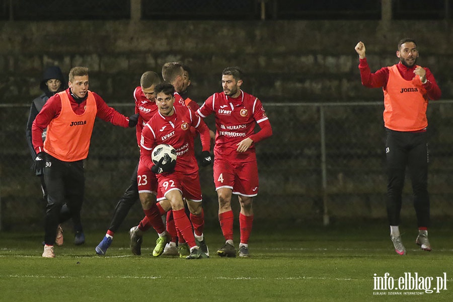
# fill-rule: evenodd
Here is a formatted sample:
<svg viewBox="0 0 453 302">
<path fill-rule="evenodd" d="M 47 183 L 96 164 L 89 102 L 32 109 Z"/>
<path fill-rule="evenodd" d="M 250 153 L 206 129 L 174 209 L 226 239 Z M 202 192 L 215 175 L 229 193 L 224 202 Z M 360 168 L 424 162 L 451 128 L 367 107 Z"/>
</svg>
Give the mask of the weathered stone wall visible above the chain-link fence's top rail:
<svg viewBox="0 0 453 302">
<path fill-rule="evenodd" d="M 441 21 L 67 21 L 0 23 L 0 100 L 28 103 L 41 70 L 59 64 L 91 70 L 91 86 L 108 102 L 130 102 L 145 70 L 181 60 L 194 72 L 198 102 L 220 89 L 221 70 L 239 65 L 245 91 L 263 102 L 381 100 L 363 89 L 355 44 L 365 43 L 372 70 L 397 61 L 398 40 L 418 41 L 443 98 L 451 98 L 451 27 Z"/>
</svg>

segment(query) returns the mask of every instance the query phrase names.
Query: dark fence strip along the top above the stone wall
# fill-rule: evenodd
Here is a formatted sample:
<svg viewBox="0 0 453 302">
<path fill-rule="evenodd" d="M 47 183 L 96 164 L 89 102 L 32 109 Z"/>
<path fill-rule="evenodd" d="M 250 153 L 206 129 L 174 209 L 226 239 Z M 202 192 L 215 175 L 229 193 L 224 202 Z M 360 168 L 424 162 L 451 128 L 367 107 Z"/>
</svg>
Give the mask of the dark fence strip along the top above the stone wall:
<svg viewBox="0 0 453 302">
<path fill-rule="evenodd" d="M 0 20 L 395 20 L 451 19 L 449 0 L 0 0 Z M 136 16 L 134 16 L 136 15 Z"/>
</svg>

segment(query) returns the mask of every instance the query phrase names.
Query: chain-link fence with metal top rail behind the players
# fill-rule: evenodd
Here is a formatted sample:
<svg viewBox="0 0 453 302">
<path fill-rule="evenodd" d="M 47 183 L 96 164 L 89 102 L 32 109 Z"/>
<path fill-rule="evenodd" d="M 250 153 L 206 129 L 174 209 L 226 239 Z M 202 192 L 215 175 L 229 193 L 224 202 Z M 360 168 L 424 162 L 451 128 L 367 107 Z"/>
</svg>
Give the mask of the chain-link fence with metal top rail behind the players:
<svg viewBox="0 0 453 302">
<path fill-rule="evenodd" d="M 130 105 L 111 105 L 129 115 Z M 385 131 L 382 102 L 271 104 L 264 107 L 273 136 L 257 145 L 260 189 L 254 199 L 257 220 L 385 218 Z M 431 102 L 428 189 L 432 216 L 453 216 L 453 101 Z M 4 230 L 40 224 L 44 203 L 39 179 L 29 167 L 25 139 L 28 105 L 0 104 L 0 218 Z M 212 119 L 207 119 L 213 128 Z M 198 147 L 199 148 L 199 147 Z M 106 228 L 127 188 L 138 160 L 135 131 L 104 121 L 95 124 L 86 167 L 85 224 Z M 217 219 L 212 167 L 200 168 L 207 221 Z M 414 217 L 410 182 L 403 198 L 403 217 Z M 238 206 L 237 202 L 233 203 Z M 143 215 L 131 209 L 124 230 Z"/>
</svg>

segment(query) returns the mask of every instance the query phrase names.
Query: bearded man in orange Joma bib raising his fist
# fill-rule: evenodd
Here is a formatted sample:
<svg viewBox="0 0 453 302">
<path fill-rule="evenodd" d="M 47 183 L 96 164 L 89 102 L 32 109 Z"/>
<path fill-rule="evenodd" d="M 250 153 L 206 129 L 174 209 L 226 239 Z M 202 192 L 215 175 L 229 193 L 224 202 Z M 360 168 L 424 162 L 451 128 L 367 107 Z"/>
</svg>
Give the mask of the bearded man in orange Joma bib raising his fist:
<svg viewBox="0 0 453 302">
<path fill-rule="evenodd" d="M 440 89 L 429 68 L 416 65 L 419 52 L 413 39 L 399 41 L 396 51 L 400 59 L 398 64 L 383 67 L 374 73 L 371 73 L 366 60 L 365 44 L 358 42 L 355 51 L 359 55 L 362 85 L 368 88 L 382 87 L 384 92 L 387 216 L 395 252 L 399 255 L 407 253 L 399 230 L 406 166 L 412 182 L 419 230 L 415 243 L 422 250 L 431 251 L 427 231 L 430 216 L 426 109 L 429 100 L 440 99 Z"/>
</svg>

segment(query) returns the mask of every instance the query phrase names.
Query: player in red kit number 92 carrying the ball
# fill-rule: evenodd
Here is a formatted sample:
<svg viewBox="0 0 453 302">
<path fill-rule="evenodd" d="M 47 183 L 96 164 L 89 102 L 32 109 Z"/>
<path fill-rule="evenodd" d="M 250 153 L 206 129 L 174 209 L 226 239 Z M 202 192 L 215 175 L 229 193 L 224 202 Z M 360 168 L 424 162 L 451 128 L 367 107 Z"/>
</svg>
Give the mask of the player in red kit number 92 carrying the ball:
<svg viewBox="0 0 453 302">
<path fill-rule="evenodd" d="M 193 148 L 193 134 L 190 127 L 197 128 L 203 151 L 209 151 L 209 129 L 203 120 L 188 107 L 175 107 L 175 88 L 169 83 L 157 85 L 156 104 L 159 112 L 151 118 L 141 133 L 140 161 L 157 173 L 159 189 L 170 201 L 176 228 L 190 248 L 187 259 L 207 258 L 208 251 L 202 231 L 204 217 L 201 207 L 201 187 L 198 165 Z M 177 152 L 176 166 L 170 171 L 155 165 L 151 159 L 154 147 L 161 143 L 172 145 Z M 174 170 L 172 172 L 171 170 Z M 190 218 L 184 210 L 183 197 L 190 210 Z M 192 221 L 194 233 L 192 232 Z M 197 243 L 195 242 L 197 241 Z M 197 245 L 198 244 L 198 245 Z M 207 253 L 204 253 L 205 247 Z"/>
</svg>

